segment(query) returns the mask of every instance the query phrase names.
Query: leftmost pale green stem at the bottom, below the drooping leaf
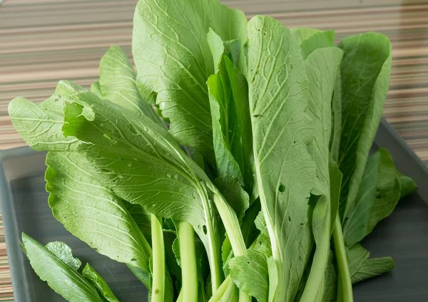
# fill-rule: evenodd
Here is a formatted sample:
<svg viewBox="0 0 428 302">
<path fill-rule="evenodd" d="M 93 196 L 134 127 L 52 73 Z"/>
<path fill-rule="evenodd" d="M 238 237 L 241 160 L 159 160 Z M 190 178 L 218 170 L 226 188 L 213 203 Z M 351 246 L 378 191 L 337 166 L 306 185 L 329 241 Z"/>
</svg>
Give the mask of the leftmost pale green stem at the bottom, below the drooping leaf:
<svg viewBox="0 0 428 302">
<path fill-rule="evenodd" d="M 153 283 L 151 302 L 163 302 L 165 297 L 165 244 L 162 223 L 156 215 L 151 214 L 151 236 L 153 249 Z"/>
</svg>

